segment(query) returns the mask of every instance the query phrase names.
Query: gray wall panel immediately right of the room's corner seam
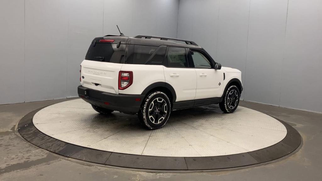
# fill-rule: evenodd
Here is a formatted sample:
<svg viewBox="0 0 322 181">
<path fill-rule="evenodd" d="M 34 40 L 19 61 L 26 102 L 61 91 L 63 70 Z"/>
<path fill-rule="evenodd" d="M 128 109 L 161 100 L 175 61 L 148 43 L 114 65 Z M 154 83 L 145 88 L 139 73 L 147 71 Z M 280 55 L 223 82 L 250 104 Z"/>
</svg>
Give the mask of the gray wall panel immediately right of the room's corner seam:
<svg viewBox="0 0 322 181">
<path fill-rule="evenodd" d="M 216 57 L 219 0 L 180 1 L 178 38 L 192 40 Z"/>
</svg>

